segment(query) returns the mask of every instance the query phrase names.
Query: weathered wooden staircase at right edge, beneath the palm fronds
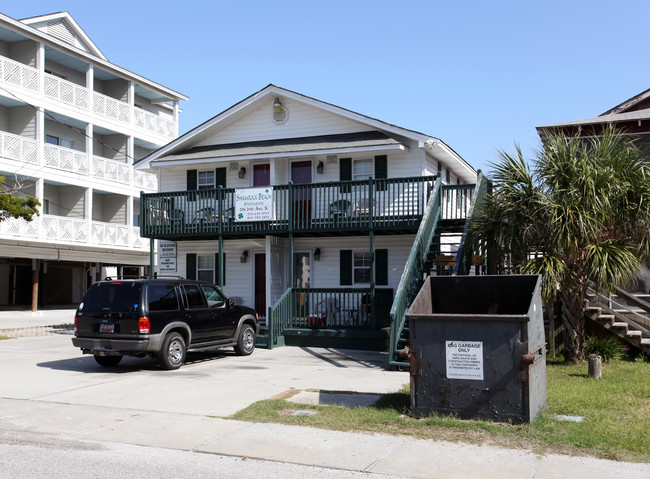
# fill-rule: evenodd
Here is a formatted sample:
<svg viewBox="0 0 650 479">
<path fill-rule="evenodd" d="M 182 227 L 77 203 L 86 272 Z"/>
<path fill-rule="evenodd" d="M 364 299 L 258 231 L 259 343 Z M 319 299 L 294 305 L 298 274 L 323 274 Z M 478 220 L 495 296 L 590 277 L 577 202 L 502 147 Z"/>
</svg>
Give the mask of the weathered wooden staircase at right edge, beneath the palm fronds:
<svg viewBox="0 0 650 479">
<path fill-rule="evenodd" d="M 595 321 L 628 345 L 650 354 L 650 319 L 629 306 L 632 302 L 635 308 L 650 314 L 650 303 L 620 289 L 613 297 L 594 291 L 590 291 L 587 297 L 586 320 Z"/>
</svg>

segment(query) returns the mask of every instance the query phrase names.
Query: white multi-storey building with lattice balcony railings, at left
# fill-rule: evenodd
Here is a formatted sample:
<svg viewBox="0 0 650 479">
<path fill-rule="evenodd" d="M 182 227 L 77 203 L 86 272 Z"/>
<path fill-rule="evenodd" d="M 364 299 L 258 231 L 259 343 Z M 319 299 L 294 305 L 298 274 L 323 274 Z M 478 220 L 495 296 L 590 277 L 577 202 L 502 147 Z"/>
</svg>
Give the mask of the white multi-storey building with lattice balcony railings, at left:
<svg viewBox="0 0 650 479">
<path fill-rule="evenodd" d="M 34 284 L 40 304 L 77 303 L 148 266 L 139 196 L 158 184 L 133 162 L 178 136 L 186 99 L 110 63 L 66 12 L 0 14 L 0 175 L 42 205 L 0 223 L 0 305 L 34 305 Z"/>
</svg>

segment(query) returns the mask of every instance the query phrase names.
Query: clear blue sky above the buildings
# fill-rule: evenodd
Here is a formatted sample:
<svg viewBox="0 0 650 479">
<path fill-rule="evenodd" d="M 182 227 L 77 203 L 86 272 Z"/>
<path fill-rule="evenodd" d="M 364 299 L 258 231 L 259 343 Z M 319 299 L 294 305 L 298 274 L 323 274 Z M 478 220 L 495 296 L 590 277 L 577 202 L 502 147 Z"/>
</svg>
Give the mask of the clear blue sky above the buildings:
<svg viewBox="0 0 650 479">
<path fill-rule="evenodd" d="M 269 83 L 441 138 L 489 171 L 535 126 L 650 88 L 650 2 L 186 0 L 0 7 L 68 11 L 113 63 L 190 97 L 181 133 Z"/>
</svg>

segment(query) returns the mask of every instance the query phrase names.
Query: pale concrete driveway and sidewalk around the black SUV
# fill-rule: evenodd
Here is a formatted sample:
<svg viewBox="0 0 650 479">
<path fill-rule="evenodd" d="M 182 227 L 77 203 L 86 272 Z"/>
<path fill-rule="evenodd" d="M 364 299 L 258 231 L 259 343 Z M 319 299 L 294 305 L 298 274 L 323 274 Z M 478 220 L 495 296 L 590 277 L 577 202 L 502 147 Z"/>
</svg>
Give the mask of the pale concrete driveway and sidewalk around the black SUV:
<svg viewBox="0 0 650 479">
<path fill-rule="evenodd" d="M 368 400 L 397 391 L 409 375 L 388 370 L 385 353 L 295 347 L 194 355 L 176 371 L 137 358 L 101 368 L 72 346 L 73 317 L 73 310 L 0 311 L 0 335 L 16 336 L 0 341 L 0 444 L 30 435 L 104 441 L 317 466 L 331 477 L 650 477 L 648 464 L 225 419 L 289 390 L 305 402 Z"/>
</svg>

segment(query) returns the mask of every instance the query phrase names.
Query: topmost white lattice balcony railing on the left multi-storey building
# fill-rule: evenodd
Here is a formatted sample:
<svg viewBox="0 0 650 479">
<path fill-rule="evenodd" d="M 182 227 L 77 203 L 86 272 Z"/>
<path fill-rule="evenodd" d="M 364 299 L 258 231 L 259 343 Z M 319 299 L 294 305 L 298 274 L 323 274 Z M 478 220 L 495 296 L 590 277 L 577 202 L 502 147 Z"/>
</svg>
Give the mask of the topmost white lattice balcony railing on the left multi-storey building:
<svg viewBox="0 0 650 479">
<path fill-rule="evenodd" d="M 38 93 L 40 90 L 39 78 L 39 71 L 36 68 L 0 56 L 0 83 Z M 101 93 L 91 92 L 86 87 L 49 73 L 43 73 L 43 94 L 49 99 L 75 106 L 81 110 L 92 111 L 100 117 L 110 118 L 132 128 L 160 135 L 168 140 L 176 136 L 176 126 L 171 119 L 136 108 Z"/>
</svg>

